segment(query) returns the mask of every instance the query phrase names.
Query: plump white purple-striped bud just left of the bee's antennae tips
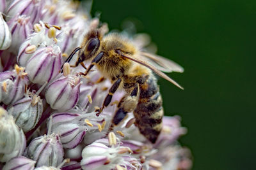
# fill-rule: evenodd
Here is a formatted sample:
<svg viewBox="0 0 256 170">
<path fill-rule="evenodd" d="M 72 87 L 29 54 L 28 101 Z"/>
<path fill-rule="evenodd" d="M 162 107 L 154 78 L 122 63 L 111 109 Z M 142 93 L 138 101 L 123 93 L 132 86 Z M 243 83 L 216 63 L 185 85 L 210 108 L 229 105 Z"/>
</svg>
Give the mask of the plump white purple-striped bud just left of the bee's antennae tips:
<svg viewBox="0 0 256 170">
<path fill-rule="evenodd" d="M 36 50 L 26 64 L 29 80 L 40 85 L 51 81 L 60 73 L 61 63 L 60 47 L 53 45 Z"/>
</svg>

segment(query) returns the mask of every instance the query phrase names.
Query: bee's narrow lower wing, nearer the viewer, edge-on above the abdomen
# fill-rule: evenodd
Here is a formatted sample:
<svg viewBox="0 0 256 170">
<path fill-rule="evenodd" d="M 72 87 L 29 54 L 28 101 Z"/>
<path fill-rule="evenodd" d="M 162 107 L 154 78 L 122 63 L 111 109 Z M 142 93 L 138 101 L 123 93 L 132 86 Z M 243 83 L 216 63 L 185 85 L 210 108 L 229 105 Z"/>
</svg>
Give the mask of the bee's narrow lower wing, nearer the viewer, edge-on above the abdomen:
<svg viewBox="0 0 256 170">
<path fill-rule="evenodd" d="M 173 83 L 173 85 L 176 85 L 177 87 L 179 87 L 180 89 L 183 90 L 183 87 L 181 87 L 179 85 L 179 83 L 177 83 L 176 81 L 172 80 L 172 78 L 168 77 L 166 74 L 164 74 L 163 72 L 159 71 L 159 69 L 157 69 L 156 67 L 148 64 L 148 62 L 146 62 L 145 60 L 140 59 L 140 57 L 137 57 L 135 55 L 123 55 L 121 54 L 122 57 L 125 57 L 127 59 L 133 60 L 134 62 L 138 62 L 139 64 L 148 67 L 149 69 L 151 69 L 152 71 L 154 71 L 157 75 L 161 76 L 162 78 L 164 78 L 165 80 L 170 81 L 171 83 Z"/>
</svg>

